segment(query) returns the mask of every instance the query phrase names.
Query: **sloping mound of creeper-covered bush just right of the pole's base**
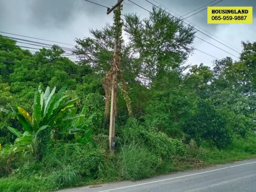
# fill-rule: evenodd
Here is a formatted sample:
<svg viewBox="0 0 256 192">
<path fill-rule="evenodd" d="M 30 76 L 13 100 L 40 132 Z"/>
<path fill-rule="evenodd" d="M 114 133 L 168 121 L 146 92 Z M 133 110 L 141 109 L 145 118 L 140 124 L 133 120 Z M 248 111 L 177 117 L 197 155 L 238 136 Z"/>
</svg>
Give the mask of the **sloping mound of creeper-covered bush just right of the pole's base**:
<svg viewBox="0 0 256 192">
<path fill-rule="evenodd" d="M 152 127 L 139 125 L 134 118 L 127 120 L 125 126 L 120 127 L 120 140 L 135 141 L 145 145 L 148 151 L 163 159 L 171 159 L 173 154 L 182 155 L 185 147 L 178 139 L 172 139 L 165 133 L 157 132 Z"/>
</svg>

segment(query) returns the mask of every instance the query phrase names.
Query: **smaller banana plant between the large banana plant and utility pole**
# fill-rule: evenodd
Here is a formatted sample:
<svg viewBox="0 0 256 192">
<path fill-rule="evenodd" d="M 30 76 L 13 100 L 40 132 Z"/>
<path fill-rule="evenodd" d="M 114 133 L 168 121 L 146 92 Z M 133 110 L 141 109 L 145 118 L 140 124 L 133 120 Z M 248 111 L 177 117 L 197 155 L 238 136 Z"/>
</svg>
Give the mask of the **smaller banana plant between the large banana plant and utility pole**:
<svg viewBox="0 0 256 192">
<path fill-rule="evenodd" d="M 92 130 L 90 128 L 88 129 L 88 126 L 95 116 L 95 113 L 91 114 L 85 121 L 86 110 L 87 108 L 84 106 L 79 114 L 75 114 L 77 108 L 73 108 L 70 111 L 69 116 L 62 119 L 66 123 L 61 126 L 59 133 L 66 138 L 70 135 L 74 135 L 75 142 L 77 143 L 91 143 L 93 146 L 96 146 L 96 143 L 91 139 Z"/>
</svg>

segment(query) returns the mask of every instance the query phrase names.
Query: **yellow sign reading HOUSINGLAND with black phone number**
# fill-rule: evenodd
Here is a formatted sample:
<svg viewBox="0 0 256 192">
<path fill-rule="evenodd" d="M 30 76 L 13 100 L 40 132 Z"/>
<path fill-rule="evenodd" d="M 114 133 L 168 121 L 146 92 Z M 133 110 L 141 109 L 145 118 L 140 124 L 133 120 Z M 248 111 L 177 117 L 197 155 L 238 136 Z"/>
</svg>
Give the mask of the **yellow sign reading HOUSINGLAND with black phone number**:
<svg viewBox="0 0 256 192">
<path fill-rule="evenodd" d="M 252 7 L 207 7 L 208 24 L 252 24 Z"/>
</svg>

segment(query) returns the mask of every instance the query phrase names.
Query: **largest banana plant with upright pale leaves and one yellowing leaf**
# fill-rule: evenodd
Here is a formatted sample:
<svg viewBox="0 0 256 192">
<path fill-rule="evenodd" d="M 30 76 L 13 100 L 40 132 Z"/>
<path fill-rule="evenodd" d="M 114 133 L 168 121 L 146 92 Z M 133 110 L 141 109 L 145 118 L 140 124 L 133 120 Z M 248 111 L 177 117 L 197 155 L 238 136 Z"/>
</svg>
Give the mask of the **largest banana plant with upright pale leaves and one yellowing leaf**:
<svg viewBox="0 0 256 192">
<path fill-rule="evenodd" d="M 46 143 L 40 143 L 44 142 L 45 137 L 48 137 L 48 135 L 40 134 L 42 130 L 48 130 L 47 133 L 49 133 L 55 127 L 65 123 L 66 120 L 77 120 L 76 122 L 79 120 L 79 123 L 84 120 L 82 118 L 83 114 L 74 114 L 74 110 L 70 110 L 74 109 L 74 103 L 76 103 L 79 98 L 67 100 L 70 94 L 62 96 L 66 88 L 67 85 L 64 85 L 58 93 L 55 93 L 56 87 L 54 87 L 52 91 L 47 87 L 44 92 L 43 85 L 40 83 L 38 90 L 35 92 L 32 115 L 19 105 L 17 105 L 17 111 L 14 108 L 11 108 L 12 111 L 0 108 L 1 112 L 11 118 L 14 119 L 17 117 L 19 122 L 23 125 L 23 134 L 12 127 L 8 127 L 8 129 L 17 136 L 15 142 L 20 144 L 21 147 L 30 149 L 33 155 L 42 153 L 40 152 L 40 147 L 38 148 L 39 144 L 40 146 L 46 145 Z"/>
</svg>

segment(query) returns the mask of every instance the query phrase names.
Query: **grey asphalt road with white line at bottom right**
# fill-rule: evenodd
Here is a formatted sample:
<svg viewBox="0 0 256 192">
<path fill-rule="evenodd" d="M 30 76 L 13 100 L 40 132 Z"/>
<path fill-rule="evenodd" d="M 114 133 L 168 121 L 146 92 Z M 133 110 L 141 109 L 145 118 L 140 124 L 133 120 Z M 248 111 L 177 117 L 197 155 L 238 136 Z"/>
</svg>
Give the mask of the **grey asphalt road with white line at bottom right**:
<svg viewBox="0 0 256 192">
<path fill-rule="evenodd" d="M 61 192 L 256 192 L 256 159 L 161 175 L 137 182 L 120 182 Z M 60 191 L 59 191 L 60 192 Z"/>
</svg>

